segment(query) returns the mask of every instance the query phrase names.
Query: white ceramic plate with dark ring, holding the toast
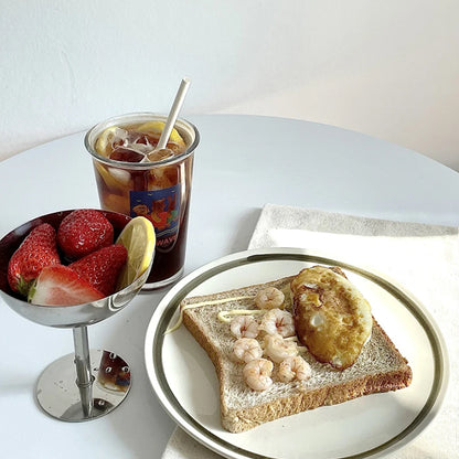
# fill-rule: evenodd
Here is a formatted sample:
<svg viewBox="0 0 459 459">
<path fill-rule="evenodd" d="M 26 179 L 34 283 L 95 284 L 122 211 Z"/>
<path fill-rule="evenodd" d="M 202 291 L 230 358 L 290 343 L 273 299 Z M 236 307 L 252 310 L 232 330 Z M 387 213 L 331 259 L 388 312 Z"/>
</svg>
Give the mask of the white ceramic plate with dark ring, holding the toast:
<svg viewBox="0 0 459 459">
<path fill-rule="evenodd" d="M 175 323 L 180 302 L 297 274 L 340 266 L 372 305 L 375 319 L 413 370 L 409 387 L 321 407 L 231 434 L 220 424 L 218 382 L 206 353 Z M 192 437 L 227 458 L 376 458 L 405 446 L 438 413 L 448 380 L 441 334 L 427 310 L 381 276 L 298 249 L 257 249 L 224 257 L 183 278 L 158 306 L 146 335 L 151 385 L 169 415 Z"/>
</svg>

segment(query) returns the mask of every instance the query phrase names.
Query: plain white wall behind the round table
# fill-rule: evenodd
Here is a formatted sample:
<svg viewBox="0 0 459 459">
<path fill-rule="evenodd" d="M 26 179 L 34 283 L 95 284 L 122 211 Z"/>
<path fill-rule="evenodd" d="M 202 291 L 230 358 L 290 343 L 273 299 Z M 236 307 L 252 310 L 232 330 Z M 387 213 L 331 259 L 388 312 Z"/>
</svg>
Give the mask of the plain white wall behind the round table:
<svg viewBox="0 0 459 459">
<path fill-rule="evenodd" d="M 0 0 L 0 159 L 121 113 L 260 114 L 459 170 L 457 0 Z"/>
</svg>

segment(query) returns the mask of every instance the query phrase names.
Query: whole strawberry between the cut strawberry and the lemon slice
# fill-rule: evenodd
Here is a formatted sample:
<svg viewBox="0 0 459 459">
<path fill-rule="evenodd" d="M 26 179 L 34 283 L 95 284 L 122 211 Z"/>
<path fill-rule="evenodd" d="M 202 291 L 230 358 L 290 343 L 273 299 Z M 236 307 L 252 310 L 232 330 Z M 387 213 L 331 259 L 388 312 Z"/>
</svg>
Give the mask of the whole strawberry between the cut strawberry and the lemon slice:
<svg viewBox="0 0 459 459">
<path fill-rule="evenodd" d="M 119 273 L 126 264 L 128 250 L 121 244 L 99 248 L 70 267 L 106 297 L 115 292 Z"/>
</svg>

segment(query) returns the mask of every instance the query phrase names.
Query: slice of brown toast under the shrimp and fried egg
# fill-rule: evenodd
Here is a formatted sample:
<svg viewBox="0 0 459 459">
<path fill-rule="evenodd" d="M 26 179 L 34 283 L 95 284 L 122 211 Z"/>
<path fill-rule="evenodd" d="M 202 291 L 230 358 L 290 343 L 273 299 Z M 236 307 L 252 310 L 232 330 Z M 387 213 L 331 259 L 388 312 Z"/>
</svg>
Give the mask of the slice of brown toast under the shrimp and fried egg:
<svg viewBox="0 0 459 459">
<path fill-rule="evenodd" d="M 274 372 L 270 388 L 264 392 L 250 389 L 243 378 L 244 363 L 233 357 L 233 343 L 236 339 L 231 334 L 230 324 L 218 320 L 217 314 L 233 309 L 257 309 L 254 303 L 256 292 L 270 286 L 282 290 L 288 302 L 292 278 L 188 298 L 181 305 L 184 325 L 207 352 L 215 366 L 220 382 L 222 426 L 228 431 L 241 433 L 307 409 L 339 404 L 362 395 L 396 391 L 407 387 L 412 381 L 407 361 L 373 319 L 371 339 L 351 367 L 338 371 L 329 364 L 317 362 L 302 348 L 300 355 L 312 370 L 308 381 L 282 383 L 276 380 Z M 212 303 L 205 305 L 210 301 Z M 193 303 L 204 305 L 190 308 Z"/>
</svg>

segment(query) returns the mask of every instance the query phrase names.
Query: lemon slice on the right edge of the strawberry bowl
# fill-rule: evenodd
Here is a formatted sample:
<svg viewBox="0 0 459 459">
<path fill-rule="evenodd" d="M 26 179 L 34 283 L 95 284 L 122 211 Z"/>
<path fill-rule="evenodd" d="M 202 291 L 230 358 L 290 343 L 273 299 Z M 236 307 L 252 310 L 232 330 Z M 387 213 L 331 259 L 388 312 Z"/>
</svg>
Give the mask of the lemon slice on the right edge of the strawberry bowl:
<svg viewBox="0 0 459 459">
<path fill-rule="evenodd" d="M 118 290 L 139 278 L 150 266 L 154 255 L 156 235 L 153 225 L 145 216 L 134 217 L 116 239 L 128 250 L 128 259 L 118 278 Z"/>
</svg>

